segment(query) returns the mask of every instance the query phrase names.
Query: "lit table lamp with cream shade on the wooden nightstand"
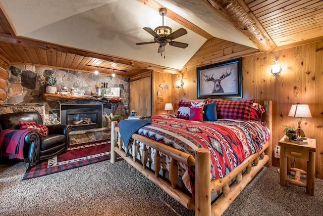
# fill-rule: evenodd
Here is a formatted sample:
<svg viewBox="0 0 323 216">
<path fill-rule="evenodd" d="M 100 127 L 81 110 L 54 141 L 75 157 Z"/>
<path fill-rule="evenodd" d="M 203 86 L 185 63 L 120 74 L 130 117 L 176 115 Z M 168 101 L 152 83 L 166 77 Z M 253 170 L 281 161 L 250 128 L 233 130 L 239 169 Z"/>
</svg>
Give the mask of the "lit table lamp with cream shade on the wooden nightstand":
<svg viewBox="0 0 323 216">
<path fill-rule="evenodd" d="M 297 139 L 306 140 L 306 136 L 301 129 L 302 118 L 311 118 L 311 111 L 309 110 L 308 104 L 292 104 L 289 110 L 288 116 L 298 118 L 298 128 L 297 128 Z"/>
</svg>

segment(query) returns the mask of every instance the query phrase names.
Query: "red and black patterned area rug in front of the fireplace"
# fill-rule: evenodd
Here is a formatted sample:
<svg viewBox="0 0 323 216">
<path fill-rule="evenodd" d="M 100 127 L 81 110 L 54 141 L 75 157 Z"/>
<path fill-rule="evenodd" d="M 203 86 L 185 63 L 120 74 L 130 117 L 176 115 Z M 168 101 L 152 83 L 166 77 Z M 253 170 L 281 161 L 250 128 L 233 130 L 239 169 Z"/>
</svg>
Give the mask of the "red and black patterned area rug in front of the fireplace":
<svg viewBox="0 0 323 216">
<path fill-rule="evenodd" d="M 110 150 L 110 139 L 70 145 L 66 152 L 29 166 L 23 180 L 109 160 Z"/>
</svg>

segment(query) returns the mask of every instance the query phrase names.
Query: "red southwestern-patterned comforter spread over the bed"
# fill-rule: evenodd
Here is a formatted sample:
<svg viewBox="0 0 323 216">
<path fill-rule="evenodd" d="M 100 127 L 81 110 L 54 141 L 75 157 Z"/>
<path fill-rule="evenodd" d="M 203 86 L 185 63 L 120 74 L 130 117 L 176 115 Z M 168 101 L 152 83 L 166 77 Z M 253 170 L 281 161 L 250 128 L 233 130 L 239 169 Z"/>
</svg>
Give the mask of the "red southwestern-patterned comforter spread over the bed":
<svg viewBox="0 0 323 216">
<path fill-rule="evenodd" d="M 151 125 L 138 134 L 193 156 L 197 148 L 211 152 L 211 180 L 223 178 L 249 155 L 259 152 L 270 138 L 264 122 L 220 119 L 189 121 L 170 115 L 152 116 Z"/>
</svg>

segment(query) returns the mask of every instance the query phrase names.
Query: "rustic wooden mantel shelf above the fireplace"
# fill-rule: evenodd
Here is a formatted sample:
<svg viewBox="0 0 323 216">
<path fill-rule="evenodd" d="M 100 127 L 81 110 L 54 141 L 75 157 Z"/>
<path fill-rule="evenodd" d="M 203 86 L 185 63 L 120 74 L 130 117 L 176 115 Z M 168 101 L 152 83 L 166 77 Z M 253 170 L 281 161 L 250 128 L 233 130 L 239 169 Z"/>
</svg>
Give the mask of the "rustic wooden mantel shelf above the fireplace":
<svg viewBox="0 0 323 216">
<path fill-rule="evenodd" d="M 62 100 L 86 100 L 86 101 L 100 101 L 102 103 L 119 103 L 122 101 L 121 97 L 97 97 L 90 95 L 61 95 L 61 94 L 43 94 L 46 101 L 62 101 Z"/>
</svg>

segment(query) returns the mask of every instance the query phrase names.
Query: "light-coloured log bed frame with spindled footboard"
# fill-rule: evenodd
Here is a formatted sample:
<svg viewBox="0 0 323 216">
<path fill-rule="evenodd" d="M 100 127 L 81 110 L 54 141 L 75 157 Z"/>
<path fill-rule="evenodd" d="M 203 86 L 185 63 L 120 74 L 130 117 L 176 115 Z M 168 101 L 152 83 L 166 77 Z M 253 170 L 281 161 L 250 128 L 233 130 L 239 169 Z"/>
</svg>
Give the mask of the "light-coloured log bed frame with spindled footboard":
<svg viewBox="0 0 323 216">
<path fill-rule="evenodd" d="M 272 101 L 265 101 L 264 106 L 266 109 L 265 122 L 267 127 L 272 132 Z M 265 165 L 267 167 L 272 166 L 272 139 L 265 143 L 263 149 L 260 152 L 250 155 L 237 166 L 232 172 L 221 179 L 209 181 L 210 176 L 210 151 L 207 149 L 196 149 L 196 157 L 191 154 L 182 152 L 156 141 L 150 140 L 144 136 L 133 134 L 134 140 L 130 148 L 132 148 L 132 157 L 126 157 L 122 148 L 125 148 L 123 141 L 119 134 L 119 127 L 117 127 L 117 121 L 112 122 L 111 127 L 111 163 L 116 162 L 116 153 L 120 155 L 129 164 L 139 170 L 146 178 L 163 189 L 166 193 L 172 196 L 175 200 L 180 202 L 188 209 L 195 210 L 195 215 L 210 216 L 221 215 L 239 195 L 239 193 L 247 186 L 247 184 L 256 176 L 259 170 Z M 143 143 L 143 152 L 141 162 L 136 161 L 137 145 L 136 141 Z M 148 161 L 147 147 L 156 150 L 154 157 L 155 171 L 152 171 L 146 167 Z M 171 182 L 159 178 L 160 170 L 160 156 L 159 152 L 171 157 L 169 180 Z M 260 158 L 259 158 L 260 156 Z M 188 166 L 195 166 L 195 202 L 191 196 L 188 196 L 176 188 L 178 179 L 178 162 L 182 162 Z M 243 170 L 246 172 L 243 173 Z M 236 182 L 229 186 L 233 179 Z M 222 190 L 222 196 L 219 197 L 211 205 L 210 193 L 217 193 Z"/>
</svg>

